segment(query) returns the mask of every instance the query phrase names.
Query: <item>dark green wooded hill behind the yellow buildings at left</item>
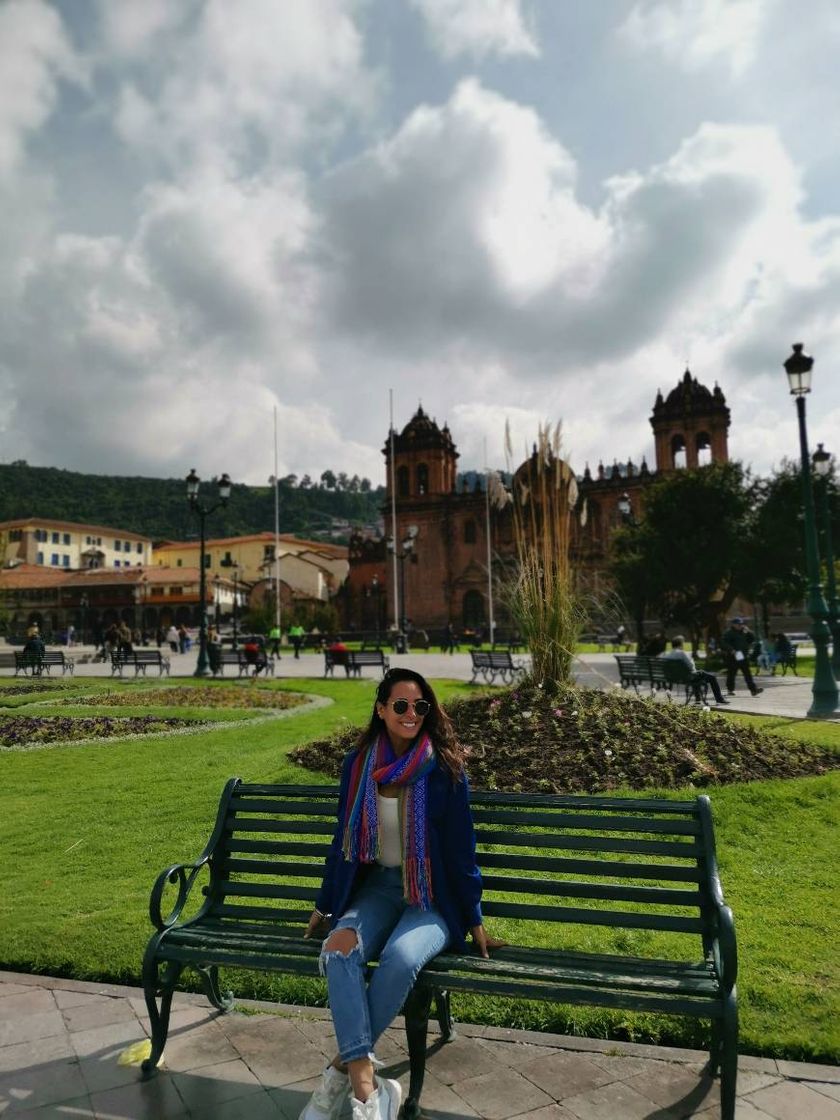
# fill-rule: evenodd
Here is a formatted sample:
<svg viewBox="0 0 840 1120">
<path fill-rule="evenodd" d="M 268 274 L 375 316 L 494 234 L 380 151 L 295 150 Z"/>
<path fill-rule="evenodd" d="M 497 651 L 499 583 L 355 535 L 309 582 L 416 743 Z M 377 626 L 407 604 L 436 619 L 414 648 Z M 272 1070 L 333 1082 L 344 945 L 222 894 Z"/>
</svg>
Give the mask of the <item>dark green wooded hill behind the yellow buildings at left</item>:
<svg viewBox="0 0 840 1120">
<path fill-rule="evenodd" d="M 307 476 L 281 478 L 280 532 L 336 541 L 342 523 L 371 525 L 380 517 L 384 487 L 366 478 L 326 470 L 312 483 Z M 204 491 L 207 500 L 211 486 Z M 83 475 L 57 467 L 0 464 L 0 521 L 57 517 L 128 529 L 153 540 L 188 540 L 198 533 L 183 478 L 123 478 Z M 226 508 L 207 520 L 208 536 L 237 536 L 274 528 L 274 494 L 269 486 L 235 485 Z M 346 538 L 346 532 L 343 534 Z"/>
</svg>

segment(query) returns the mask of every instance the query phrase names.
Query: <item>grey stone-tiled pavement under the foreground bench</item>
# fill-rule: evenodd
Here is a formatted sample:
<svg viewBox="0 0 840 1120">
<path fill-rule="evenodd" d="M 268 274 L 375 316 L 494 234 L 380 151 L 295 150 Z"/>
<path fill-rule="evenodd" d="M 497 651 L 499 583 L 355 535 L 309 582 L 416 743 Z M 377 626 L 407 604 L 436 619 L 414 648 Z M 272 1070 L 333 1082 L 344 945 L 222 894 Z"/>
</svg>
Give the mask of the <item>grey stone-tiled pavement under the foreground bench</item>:
<svg viewBox="0 0 840 1120">
<path fill-rule="evenodd" d="M 123 1064 L 147 1037 L 139 989 L 0 972 L 0 1113 L 297 1120 L 332 1056 L 327 1014 L 240 1006 L 221 1016 L 202 997 L 176 997 L 165 1067 L 142 1081 Z M 405 1088 L 401 1029 L 388 1032 L 380 1053 Z M 463 1026 L 450 1045 L 432 1047 L 423 1114 L 716 1120 L 719 1086 L 703 1062 L 697 1051 Z M 840 1120 L 840 1068 L 743 1057 L 736 1118 Z"/>
</svg>

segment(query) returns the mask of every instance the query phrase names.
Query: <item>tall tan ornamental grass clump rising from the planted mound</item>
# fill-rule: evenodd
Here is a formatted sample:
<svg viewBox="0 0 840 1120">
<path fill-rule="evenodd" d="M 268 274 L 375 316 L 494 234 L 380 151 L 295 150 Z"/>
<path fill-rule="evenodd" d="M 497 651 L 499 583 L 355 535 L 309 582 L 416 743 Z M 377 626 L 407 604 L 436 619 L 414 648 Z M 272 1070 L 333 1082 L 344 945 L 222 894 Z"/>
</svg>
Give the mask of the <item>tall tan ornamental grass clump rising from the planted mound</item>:
<svg viewBox="0 0 840 1120">
<path fill-rule="evenodd" d="M 510 428 L 505 450 L 510 466 Z M 531 651 L 531 678 L 536 684 L 571 681 L 575 646 L 586 624 L 569 563 L 577 501 L 575 473 L 560 458 L 560 423 L 553 430 L 541 424 L 533 454 L 513 476 L 519 567 L 506 588 L 508 609 Z"/>
</svg>

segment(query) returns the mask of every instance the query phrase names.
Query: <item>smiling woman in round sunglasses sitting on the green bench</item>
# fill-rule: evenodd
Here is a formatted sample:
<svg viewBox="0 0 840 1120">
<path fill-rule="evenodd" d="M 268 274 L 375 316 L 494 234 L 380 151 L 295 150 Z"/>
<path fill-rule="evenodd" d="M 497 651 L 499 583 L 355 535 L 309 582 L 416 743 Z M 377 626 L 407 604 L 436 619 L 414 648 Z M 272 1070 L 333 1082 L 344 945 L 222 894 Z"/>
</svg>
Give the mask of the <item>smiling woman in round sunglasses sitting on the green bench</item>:
<svg viewBox="0 0 840 1120">
<path fill-rule="evenodd" d="M 501 942 L 482 922 L 465 752 L 428 682 L 392 669 L 342 768 L 338 820 L 306 936 L 321 949 L 338 1054 L 300 1120 L 396 1120 L 401 1090 L 374 1046 L 423 965 L 447 946 Z M 371 960 L 377 967 L 367 969 Z"/>
</svg>

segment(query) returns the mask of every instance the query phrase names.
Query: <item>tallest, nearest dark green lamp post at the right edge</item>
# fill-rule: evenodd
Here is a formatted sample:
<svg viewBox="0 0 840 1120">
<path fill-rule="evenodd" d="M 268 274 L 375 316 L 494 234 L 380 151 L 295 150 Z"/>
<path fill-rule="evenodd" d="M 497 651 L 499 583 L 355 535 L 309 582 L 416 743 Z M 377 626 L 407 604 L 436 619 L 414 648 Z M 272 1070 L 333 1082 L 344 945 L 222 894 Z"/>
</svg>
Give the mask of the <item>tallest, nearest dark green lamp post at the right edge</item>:
<svg viewBox="0 0 840 1120">
<path fill-rule="evenodd" d="M 784 363 L 791 395 L 796 398 L 796 416 L 800 427 L 800 455 L 802 458 L 802 501 L 805 513 L 805 559 L 808 562 L 808 613 L 813 619 L 811 637 L 816 652 L 814 669 L 813 700 L 809 716 L 833 716 L 838 709 L 838 691 L 829 660 L 831 632 L 825 619 L 828 607 L 820 584 L 820 553 L 816 543 L 816 519 L 814 495 L 811 486 L 811 459 L 808 454 L 808 431 L 805 429 L 805 395 L 811 392 L 811 370 L 814 360 L 802 353 L 802 343 L 795 343 L 793 354 Z"/>
</svg>

